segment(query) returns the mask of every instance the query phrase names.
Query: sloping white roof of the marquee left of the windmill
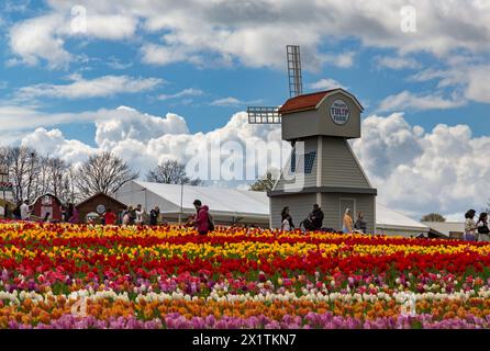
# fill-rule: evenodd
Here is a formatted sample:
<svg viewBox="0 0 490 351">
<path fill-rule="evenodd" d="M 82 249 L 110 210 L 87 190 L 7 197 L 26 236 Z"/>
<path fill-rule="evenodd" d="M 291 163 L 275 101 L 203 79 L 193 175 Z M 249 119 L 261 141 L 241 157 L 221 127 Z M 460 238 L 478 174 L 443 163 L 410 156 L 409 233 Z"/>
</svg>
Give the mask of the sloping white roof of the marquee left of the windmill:
<svg viewBox="0 0 490 351">
<path fill-rule="evenodd" d="M 180 206 L 179 184 L 162 184 L 134 181 L 140 186 L 146 188 L 156 195 Z M 211 212 L 249 214 L 258 216 L 269 215 L 269 199 L 266 193 L 209 186 L 183 185 L 182 207 L 196 211 L 192 203 L 199 199 L 203 205 L 208 205 Z"/>
</svg>

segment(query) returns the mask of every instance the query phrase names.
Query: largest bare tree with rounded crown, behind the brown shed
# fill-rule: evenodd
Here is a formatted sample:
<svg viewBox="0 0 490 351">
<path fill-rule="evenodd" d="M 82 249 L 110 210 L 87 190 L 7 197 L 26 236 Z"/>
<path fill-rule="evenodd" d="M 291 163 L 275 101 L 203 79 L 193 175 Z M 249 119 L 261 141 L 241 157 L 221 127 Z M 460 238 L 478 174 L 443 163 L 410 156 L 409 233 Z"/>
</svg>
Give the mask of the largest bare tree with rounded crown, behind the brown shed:
<svg viewBox="0 0 490 351">
<path fill-rule="evenodd" d="M 80 166 L 76 176 L 76 185 L 85 196 L 99 192 L 113 194 L 126 182 L 137 177 L 138 173 L 134 172 L 127 162 L 104 151 L 90 156 Z"/>
</svg>

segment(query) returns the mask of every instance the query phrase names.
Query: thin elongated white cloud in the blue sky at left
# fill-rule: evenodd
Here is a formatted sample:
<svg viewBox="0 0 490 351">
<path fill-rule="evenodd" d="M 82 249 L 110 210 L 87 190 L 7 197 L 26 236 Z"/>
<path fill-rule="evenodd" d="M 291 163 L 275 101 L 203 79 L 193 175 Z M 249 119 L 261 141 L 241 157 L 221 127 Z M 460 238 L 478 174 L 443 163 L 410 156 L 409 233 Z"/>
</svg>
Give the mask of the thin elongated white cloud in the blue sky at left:
<svg viewBox="0 0 490 351">
<path fill-rule="evenodd" d="M 127 76 L 103 76 L 83 79 L 79 75 L 70 76 L 69 84 L 35 84 L 19 89 L 20 100 L 35 98 L 88 99 L 113 97 L 119 93 L 135 93 L 155 89 L 164 81 L 159 78 L 132 78 Z"/>
</svg>

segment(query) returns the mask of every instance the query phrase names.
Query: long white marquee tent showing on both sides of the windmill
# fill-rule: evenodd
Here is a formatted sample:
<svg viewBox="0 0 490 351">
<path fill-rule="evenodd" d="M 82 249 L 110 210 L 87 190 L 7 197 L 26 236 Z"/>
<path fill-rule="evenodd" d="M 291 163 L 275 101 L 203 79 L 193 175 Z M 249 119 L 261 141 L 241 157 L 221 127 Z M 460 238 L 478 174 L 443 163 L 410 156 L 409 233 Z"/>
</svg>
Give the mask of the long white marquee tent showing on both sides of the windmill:
<svg viewBox="0 0 490 351">
<path fill-rule="evenodd" d="M 126 205 L 142 204 L 147 211 L 158 206 L 164 217 L 170 220 L 178 220 L 179 215 L 186 220 L 193 215 L 192 202 L 199 199 L 210 207 L 218 223 L 240 219 L 244 224 L 269 225 L 269 197 L 264 192 L 131 181 L 115 193 L 115 199 Z M 410 237 L 426 236 L 427 231 L 428 227 L 420 222 L 376 204 L 377 234 Z"/>
</svg>

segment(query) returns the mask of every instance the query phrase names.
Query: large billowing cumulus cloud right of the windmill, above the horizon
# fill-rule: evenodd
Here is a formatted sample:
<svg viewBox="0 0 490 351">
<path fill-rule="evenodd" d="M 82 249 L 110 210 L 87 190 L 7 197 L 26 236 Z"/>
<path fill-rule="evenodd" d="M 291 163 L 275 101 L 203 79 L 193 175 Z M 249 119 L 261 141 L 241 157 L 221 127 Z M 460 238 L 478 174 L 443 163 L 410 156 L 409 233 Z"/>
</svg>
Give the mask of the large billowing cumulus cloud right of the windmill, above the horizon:
<svg viewBox="0 0 490 351">
<path fill-rule="evenodd" d="M 414 218 L 480 208 L 489 195 L 481 192 L 490 179 L 481 152 L 490 149 L 490 137 L 472 137 L 467 125 L 439 124 L 426 132 L 401 114 L 369 116 L 363 138 L 352 145 L 378 188 L 378 200 Z"/>
</svg>

